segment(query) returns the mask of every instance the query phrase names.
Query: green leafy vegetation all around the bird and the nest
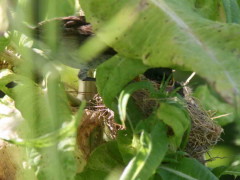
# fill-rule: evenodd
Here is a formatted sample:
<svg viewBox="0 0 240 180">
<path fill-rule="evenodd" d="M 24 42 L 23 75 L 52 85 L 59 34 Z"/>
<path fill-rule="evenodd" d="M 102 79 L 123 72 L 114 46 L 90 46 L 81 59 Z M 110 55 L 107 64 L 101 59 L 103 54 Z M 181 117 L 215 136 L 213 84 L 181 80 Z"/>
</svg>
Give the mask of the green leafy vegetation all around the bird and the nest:
<svg viewBox="0 0 240 180">
<path fill-rule="evenodd" d="M 0 90 L 7 95 L 0 100 L 0 177 L 239 178 L 239 3 L 0 0 Z M 45 29 L 44 45 L 29 28 L 52 18 L 79 15 L 80 10 L 96 35 L 76 49 L 79 63 L 97 56 L 106 44 L 118 52 L 97 68 L 96 84 L 116 122 L 126 126 L 118 131 L 117 138 L 96 147 L 87 161 L 76 147 L 77 127 L 86 103 L 79 103 L 76 94 L 69 93 L 78 91 L 78 70 L 63 65 L 57 56 L 48 57 L 49 49 L 58 53 L 62 42 L 58 23 Z M 67 47 L 60 51 L 69 53 Z M 211 161 L 202 164 L 186 154 L 191 117 L 184 98 L 176 91 L 166 91 L 168 80 L 163 80 L 159 91 L 150 82 L 129 84 L 151 67 L 175 69 L 177 82 L 196 72 L 189 86 L 201 107 L 214 114 L 209 115 L 211 118 L 228 114 L 213 120 L 224 133 L 205 154 Z M 17 85 L 9 88 L 12 82 Z M 160 103 L 149 117 L 129 100 L 139 89 L 147 89 Z M 69 94 L 77 101 L 77 108 Z"/>
</svg>

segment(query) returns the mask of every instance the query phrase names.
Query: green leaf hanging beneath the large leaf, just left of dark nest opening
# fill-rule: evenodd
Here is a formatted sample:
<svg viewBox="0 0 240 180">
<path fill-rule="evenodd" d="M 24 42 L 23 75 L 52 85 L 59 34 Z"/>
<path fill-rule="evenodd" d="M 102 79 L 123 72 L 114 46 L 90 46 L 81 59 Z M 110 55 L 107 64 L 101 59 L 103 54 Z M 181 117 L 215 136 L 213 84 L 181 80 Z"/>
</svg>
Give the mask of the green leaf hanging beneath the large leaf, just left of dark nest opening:
<svg viewBox="0 0 240 180">
<path fill-rule="evenodd" d="M 124 86 L 137 75 L 145 72 L 147 66 L 138 60 L 114 56 L 97 69 L 97 87 L 104 103 L 111 107 L 112 101 Z"/>
</svg>

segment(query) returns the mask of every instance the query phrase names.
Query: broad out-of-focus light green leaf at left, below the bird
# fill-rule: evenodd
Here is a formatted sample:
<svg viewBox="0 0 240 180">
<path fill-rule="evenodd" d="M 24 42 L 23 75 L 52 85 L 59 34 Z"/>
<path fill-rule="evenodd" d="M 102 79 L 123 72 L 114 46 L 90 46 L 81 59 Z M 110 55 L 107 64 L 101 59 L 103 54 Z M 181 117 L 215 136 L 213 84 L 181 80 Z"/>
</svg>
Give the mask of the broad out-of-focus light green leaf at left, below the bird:
<svg viewBox="0 0 240 180">
<path fill-rule="evenodd" d="M 28 78 L 22 78 L 13 89 L 16 107 L 25 118 L 27 127 L 34 129 L 34 132 L 30 130 L 32 134 L 27 135 L 28 138 L 39 137 L 59 129 L 62 123 L 72 119 L 61 83 L 51 78 L 48 82 L 46 94 Z M 27 128 L 24 129 L 25 132 L 26 130 Z"/>
</svg>

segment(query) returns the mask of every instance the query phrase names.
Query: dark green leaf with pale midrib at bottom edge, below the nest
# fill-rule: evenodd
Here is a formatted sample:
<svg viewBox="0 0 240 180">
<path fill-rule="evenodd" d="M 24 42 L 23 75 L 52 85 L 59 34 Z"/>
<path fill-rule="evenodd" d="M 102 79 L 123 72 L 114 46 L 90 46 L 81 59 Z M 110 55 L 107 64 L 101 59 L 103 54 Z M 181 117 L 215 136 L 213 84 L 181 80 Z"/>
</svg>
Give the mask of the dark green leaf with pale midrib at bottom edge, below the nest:
<svg viewBox="0 0 240 180">
<path fill-rule="evenodd" d="M 212 172 L 196 159 L 183 158 L 179 163 L 161 165 L 158 174 L 163 180 L 217 180 Z"/>
</svg>

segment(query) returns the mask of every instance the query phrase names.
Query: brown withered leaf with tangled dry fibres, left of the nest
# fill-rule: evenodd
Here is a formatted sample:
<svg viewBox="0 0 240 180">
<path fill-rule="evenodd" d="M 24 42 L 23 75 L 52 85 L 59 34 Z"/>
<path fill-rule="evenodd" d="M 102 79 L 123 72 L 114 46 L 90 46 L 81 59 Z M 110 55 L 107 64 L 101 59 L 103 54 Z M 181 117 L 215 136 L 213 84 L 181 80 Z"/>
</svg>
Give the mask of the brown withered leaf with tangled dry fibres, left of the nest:
<svg viewBox="0 0 240 180">
<path fill-rule="evenodd" d="M 115 139 L 120 129 L 122 126 L 114 121 L 114 112 L 96 94 L 84 110 L 82 123 L 77 131 L 77 143 L 83 156 L 87 159 L 97 146 Z"/>
</svg>

